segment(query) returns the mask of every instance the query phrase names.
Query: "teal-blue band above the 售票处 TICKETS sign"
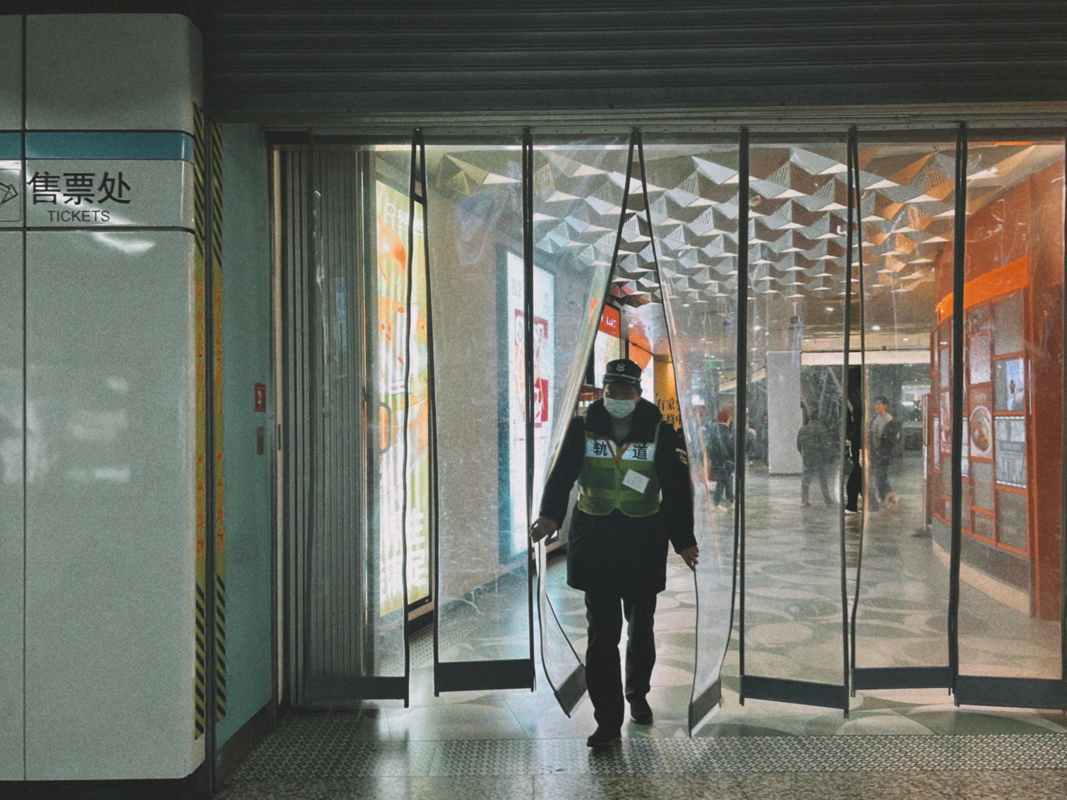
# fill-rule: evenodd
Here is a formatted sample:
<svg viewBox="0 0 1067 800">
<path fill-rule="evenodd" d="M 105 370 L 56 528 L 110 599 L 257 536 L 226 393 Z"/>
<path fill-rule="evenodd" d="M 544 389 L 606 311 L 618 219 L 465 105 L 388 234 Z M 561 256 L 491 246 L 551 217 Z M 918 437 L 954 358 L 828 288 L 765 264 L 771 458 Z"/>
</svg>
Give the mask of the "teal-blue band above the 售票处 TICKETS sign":
<svg viewBox="0 0 1067 800">
<path fill-rule="evenodd" d="M 27 131 L 26 157 L 192 161 L 193 138 L 182 131 Z"/>
</svg>

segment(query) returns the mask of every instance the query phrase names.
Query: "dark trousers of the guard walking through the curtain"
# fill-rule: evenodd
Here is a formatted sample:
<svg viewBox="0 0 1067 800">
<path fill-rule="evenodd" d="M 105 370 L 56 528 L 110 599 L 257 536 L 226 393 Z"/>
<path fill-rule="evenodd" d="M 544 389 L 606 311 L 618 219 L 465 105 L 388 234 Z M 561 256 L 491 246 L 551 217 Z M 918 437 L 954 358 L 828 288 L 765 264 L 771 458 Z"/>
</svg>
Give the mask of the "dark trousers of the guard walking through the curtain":
<svg viewBox="0 0 1067 800">
<path fill-rule="evenodd" d="M 621 605 L 621 609 L 620 609 Z M 622 671 L 619 665 L 619 638 L 622 619 L 626 618 L 626 700 L 649 693 L 652 668 L 656 662 L 653 618 L 654 592 L 620 598 L 615 594 L 586 592 L 586 620 L 589 644 L 586 647 L 586 685 L 593 703 L 596 724 L 612 731 L 624 719 Z"/>
</svg>

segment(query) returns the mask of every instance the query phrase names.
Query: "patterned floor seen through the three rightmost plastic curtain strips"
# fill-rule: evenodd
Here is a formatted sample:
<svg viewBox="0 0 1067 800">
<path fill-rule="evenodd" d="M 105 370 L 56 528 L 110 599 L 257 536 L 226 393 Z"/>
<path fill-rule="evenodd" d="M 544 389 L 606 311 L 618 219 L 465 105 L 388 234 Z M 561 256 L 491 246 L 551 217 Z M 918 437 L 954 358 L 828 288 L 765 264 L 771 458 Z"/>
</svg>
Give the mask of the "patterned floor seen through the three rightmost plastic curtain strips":
<svg viewBox="0 0 1067 800">
<path fill-rule="evenodd" d="M 897 459 L 891 478 L 897 505 L 845 517 L 849 609 L 863 533 L 856 666 L 945 667 L 949 569 L 925 525 L 921 460 Z M 748 474 L 746 671 L 840 684 L 839 509 L 821 499 L 802 507 L 798 483 L 796 476 L 768 478 L 765 469 Z M 966 581 L 959 644 L 964 674 L 1062 674 L 1058 623 L 1031 619 Z"/>
</svg>

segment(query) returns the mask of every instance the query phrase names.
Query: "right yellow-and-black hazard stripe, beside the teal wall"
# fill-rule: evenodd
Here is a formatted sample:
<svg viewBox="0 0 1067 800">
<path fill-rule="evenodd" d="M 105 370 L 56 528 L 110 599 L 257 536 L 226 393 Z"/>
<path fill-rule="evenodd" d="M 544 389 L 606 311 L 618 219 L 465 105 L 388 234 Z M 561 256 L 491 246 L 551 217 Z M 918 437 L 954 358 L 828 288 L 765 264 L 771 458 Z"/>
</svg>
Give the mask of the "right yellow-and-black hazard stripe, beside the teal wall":
<svg viewBox="0 0 1067 800">
<path fill-rule="evenodd" d="M 216 719 L 226 716 L 226 460 L 222 394 L 222 126 L 211 126 L 211 309 L 214 397 Z"/>
</svg>

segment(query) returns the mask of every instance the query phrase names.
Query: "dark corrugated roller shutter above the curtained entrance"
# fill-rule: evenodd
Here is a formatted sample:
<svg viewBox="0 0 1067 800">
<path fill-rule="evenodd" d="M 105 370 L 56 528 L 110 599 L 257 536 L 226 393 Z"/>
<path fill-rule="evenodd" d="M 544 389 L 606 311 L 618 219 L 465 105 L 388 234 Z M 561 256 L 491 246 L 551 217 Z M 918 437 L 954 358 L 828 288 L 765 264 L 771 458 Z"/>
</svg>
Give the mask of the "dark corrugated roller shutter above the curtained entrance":
<svg viewBox="0 0 1067 800">
<path fill-rule="evenodd" d="M 1060 102 L 1067 3 L 210 4 L 222 118 Z"/>
</svg>

